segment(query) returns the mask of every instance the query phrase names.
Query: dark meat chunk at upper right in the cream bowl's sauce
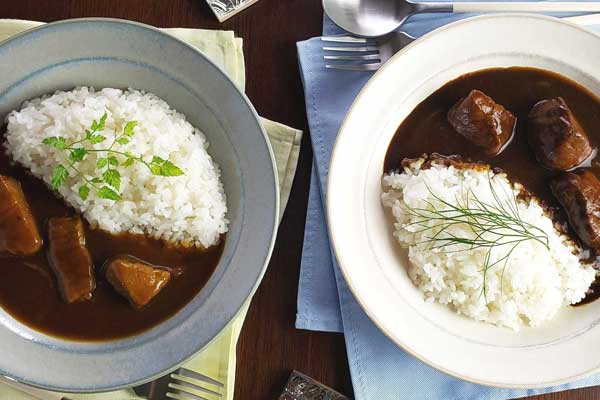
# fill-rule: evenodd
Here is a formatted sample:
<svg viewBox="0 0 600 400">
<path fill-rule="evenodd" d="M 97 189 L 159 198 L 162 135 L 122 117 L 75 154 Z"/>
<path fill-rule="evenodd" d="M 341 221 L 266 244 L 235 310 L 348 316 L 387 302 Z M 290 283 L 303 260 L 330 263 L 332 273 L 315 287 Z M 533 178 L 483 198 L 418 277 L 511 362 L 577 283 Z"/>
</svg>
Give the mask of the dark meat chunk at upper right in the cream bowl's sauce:
<svg viewBox="0 0 600 400">
<path fill-rule="evenodd" d="M 592 155 L 588 136 L 562 97 L 534 105 L 529 120 L 529 143 L 546 168 L 568 171 Z"/>
</svg>

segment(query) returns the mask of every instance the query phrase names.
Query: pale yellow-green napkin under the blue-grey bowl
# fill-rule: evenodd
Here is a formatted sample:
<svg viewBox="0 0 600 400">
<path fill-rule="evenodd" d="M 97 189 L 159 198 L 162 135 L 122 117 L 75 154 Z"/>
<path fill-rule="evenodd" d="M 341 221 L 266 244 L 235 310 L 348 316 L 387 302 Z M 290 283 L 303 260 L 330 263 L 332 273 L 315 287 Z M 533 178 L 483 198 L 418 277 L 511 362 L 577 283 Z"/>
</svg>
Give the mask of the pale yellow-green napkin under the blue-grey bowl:
<svg viewBox="0 0 600 400">
<path fill-rule="evenodd" d="M 41 22 L 0 19 L 0 41 L 26 29 L 42 25 Z M 242 39 L 236 38 L 231 31 L 211 31 L 202 29 L 171 28 L 163 31 L 182 39 L 195 46 L 219 65 L 225 73 L 244 90 L 246 72 Z M 298 155 L 302 131 L 292 129 L 276 122 L 262 119 L 267 131 L 279 178 L 281 196 L 281 215 L 287 205 L 290 195 Z M 191 359 L 185 366 L 204 375 L 215 378 L 225 384 L 226 399 L 233 399 L 235 382 L 236 345 L 244 318 L 250 304 L 238 313 L 237 317 L 216 337 L 200 354 Z M 120 390 L 103 394 L 73 395 L 66 394 L 72 400 L 129 400 L 140 399 L 132 390 Z M 210 395 L 208 395 L 210 397 Z M 0 384 L 0 400 L 32 400 L 33 397 L 17 391 L 9 386 Z M 141 399 L 140 399 L 141 400 Z"/>
</svg>

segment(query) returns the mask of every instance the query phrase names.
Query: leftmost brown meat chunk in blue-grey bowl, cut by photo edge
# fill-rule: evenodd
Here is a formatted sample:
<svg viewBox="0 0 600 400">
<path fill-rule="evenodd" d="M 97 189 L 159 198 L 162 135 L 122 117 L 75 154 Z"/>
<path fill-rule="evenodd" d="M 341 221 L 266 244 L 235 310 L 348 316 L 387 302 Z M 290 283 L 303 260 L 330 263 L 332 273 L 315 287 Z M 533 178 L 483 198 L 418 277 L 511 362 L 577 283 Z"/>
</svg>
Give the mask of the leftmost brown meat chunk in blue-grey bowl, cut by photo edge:
<svg viewBox="0 0 600 400">
<path fill-rule="evenodd" d="M 0 175 L 0 252 L 28 255 L 41 248 L 42 237 L 21 185 Z"/>
</svg>

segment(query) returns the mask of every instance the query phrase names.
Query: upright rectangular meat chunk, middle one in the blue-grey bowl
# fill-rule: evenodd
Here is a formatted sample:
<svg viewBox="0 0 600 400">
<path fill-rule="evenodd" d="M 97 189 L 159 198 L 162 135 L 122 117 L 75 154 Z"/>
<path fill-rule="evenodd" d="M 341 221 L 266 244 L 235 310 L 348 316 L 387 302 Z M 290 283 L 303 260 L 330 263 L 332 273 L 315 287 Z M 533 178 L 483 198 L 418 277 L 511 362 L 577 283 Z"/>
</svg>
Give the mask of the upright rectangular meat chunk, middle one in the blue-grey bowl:
<svg viewBox="0 0 600 400">
<path fill-rule="evenodd" d="M 48 221 L 48 261 L 63 300 L 89 300 L 96 288 L 94 264 L 85 246 L 83 222 L 79 217 L 54 217 Z"/>
</svg>

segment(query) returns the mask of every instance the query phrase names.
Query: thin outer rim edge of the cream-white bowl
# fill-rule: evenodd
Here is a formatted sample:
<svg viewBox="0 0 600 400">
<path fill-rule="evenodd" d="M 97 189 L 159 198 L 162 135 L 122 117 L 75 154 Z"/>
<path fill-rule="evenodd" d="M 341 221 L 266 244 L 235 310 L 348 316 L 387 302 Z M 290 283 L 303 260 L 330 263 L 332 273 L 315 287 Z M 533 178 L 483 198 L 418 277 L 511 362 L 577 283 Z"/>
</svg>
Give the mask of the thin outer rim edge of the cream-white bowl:
<svg viewBox="0 0 600 400">
<path fill-rule="evenodd" d="M 551 17 L 551 16 L 546 16 L 546 15 L 540 15 L 540 14 L 528 14 L 528 13 L 494 13 L 494 14 L 483 14 L 483 15 L 476 15 L 476 16 L 472 16 L 472 17 L 467 17 L 452 23 L 449 23 L 447 25 L 443 25 L 431 32 L 428 32 L 426 34 L 424 34 L 423 36 L 417 38 L 415 41 L 409 43 L 407 46 L 405 46 L 404 48 L 402 48 L 400 51 L 398 51 L 396 54 L 394 54 L 386 63 L 384 63 L 384 65 L 381 66 L 381 68 L 379 68 L 371 78 L 369 78 L 369 80 L 367 81 L 367 83 L 361 88 L 361 90 L 359 91 L 358 95 L 356 96 L 356 98 L 354 99 L 354 101 L 352 102 L 352 104 L 350 105 L 350 107 L 348 108 L 348 111 L 346 112 L 346 115 L 344 116 L 344 119 L 342 120 L 342 124 L 340 125 L 340 129 L 338 131 L 337 137 L 335 139 L 334 142 L 334 146 L 333 146 L 333 150 L 331 153 L 331 158 L 330 158 L 330 166 L 333 165 L 334 161 L 339 158 L 339 148 L 341 146 L 339 146 L 340 142 L 341 142 L 341 137 L 342 137 L 342 133 L 347 129 L 347 126 L 349 124 L 349 120 L 350 120 L 350 116 L 352 114 L 354 114 L 356 112 L 356 109 L 358 108 L 358 104 L 362 102 L 362 99 L 366 96 L 366 93 L 368 91 L 370 91 L 370 88 L 374 85 L 374 82 L 376 80 L 378 80 L 380 75 L 383 75 L 384 71 L 386 71 L 387 69 L 390 68 L 390 66 L 392 64 L 394 64 L 394 62 L 396 60 L 398 60 L 399 58 L 403 57 L 404 54 L 406 52 L 408 52 L 410 49 L 412 49 L 415 46 L 419 46 L 421 44 L 421 42 L 428 40 L 432 37 L 437 37 L 442 35 L 444 32 L 446 32 L 449 29 L 454 29 L 457 26 L 461 26 L 461 25 L 465 25 L 465 24 L 470 24 L 473 21 L 480 21 L 480 20 L 502 20 L 505 18 L 514 18 L 514 17 L 520 17 L 520 18 L 530 18 L 530 19 L 535 19 L 535 20 L 545 20 L 548 22 L 553 22 L 553 23 L 561 23 L 561 24 L 565 24 L 565 25 L 569 25 L 573 28 L 576 28 L 577 30 L 579 30 L 582 33 L 585 33 L 587 35 L 592 35 L 594 37 L 598 37 L 598 35 L 590 32 L 589 30 L 585 29 L 584 27 L 577 25 L 574 22 L 571 22 L 569 20 L 564 20 L 564 19 L 560 19 L 560 18 L 556 18 L 556 17 Z M 331 169 L 330 169 L 331 172 Z M 562 379 L 558 379 L 558 380 L 553 380 L 550 382 L 538 382 L 532 385 L 528 385 L 528 384 L 504 384 L 504 383 L 498 383 L 495 381 L 487 381 L 487 380 L 482 380 L 482 379 L 474 379 L 473 377 L 469 377 L 469 376 L 464 376 L 462 374 L 456 373 L 455 371 L 449 370 L 448 368 L 441 366 L 435 362 L 430 361 L 428 358 L 422 356 L 421 354 L 418 354 L 417 352 L 413 351 L 411 349 L 411 347 L 409 345 L 407 345 L 406 343 L 403 343 L 399 338 L 395 337 L 394 334 L 391 332 L 391 330 L 386 328 L 386 325 L 377 318 L 377 316 L 375 315 L 375 313 L 373 311 L 371 311 L 365 304 L 362 296 L 361 296 L 361 292 L 358 290 L 358 288 L 356 287 L 356 285 L 353 283 L 353 281 L 350 279 L 350 270 L 352 269 L 352 267 L 350 266 L 351 263 L 346 262 L 346 260 L 343 257 L 340 257 L 338 254 L 339 252 L 342 251 L 343 246 L 340 243 L 340 238 L 338 237 L 338 235 L 336 234 L 334 228 L 333 228 L 333 224 L 331 223 L 331 221 L 334 219 L 332 218 L 332 213 L 333 210 L 335 208 L 335 205 L 332 203 L 331 197 L 329 195 L 329 191 L 332 190 L 331 188 L 334 187 L 333 185 L 333 178 L 332 178 L 332 174 L 330 173 L 328 175 L 327 178 L 327 196 L 326 196 L 326 215 L 327 215 L 327 221 L 328 221 L 328 233 L 329 233 L 329 238 L 331 241 L 331 245 L 332 248 L 334 250 L 334 253 L 336 255 L 336 260 L 337 263 L 340 267 L 340 271 L 342 272 L 342 276 L 347 284 L 347 286 L 350 289 L 350 292 L 352 293 L 353 298 L 357 301 L 357 303 L 360 305 L 360 308 L 363 310 L 363 312 L 365 312 L 365 314 L 368 316 L 369 320 L 379 329 L 380 332 L 382 332 L 391 342 L 393 342 L 394 344 L 396 344 L 397 346 L 399 346 L 400 349 L 404 350 L 405 352 L 407 352 L 408 354 L 410 354 L 411 356 L 415 357 L 416 359 L 418 359 L 419 361 L 437 369 L 438 371 L 441 371 L 449 376 L 461 379 L 463 381 L 467 381 L 467 382 L 472 382 L 472 383 L 476 383 L 479 385 L 484 385 L 484 386 L 490 386 L 490 387 L 496 387 L 496 388 L 501 388 L 501 389 L 535 389 L 535 388 L 545 388 L 545 387 L 549 387 L 549 386 L 555 386 L 555 385 L 561 385 L 561 384 L 566 384 L 566 383 L 570 383 L 573 382 L 575 380 L 578 379 L 582 379 L 585 377 L 588 377 L 590 375 L 592 375 L 595 372 L 600 371 L 600 364 L 594 368 L 591 368 L 587 371 L 584 371 L 580 374 L 577 374 L 575 376 L 570 376 L 570 377 L 566 377 L 566 378 L 562 378 Z M 566 390 L 566 389 L 565 389 Z"/>
</svg>

